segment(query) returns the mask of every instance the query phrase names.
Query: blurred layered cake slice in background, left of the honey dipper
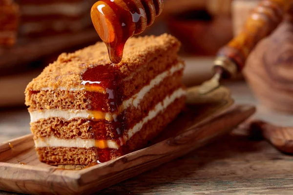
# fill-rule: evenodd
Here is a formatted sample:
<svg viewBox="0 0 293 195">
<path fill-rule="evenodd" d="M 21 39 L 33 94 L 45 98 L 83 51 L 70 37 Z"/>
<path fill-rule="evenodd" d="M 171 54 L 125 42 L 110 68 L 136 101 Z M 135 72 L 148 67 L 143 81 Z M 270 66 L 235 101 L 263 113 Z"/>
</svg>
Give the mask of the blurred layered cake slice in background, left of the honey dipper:
<svg viewBox="0 0 293 195">
<path fill-rule="evenodd" d="M 21 36 L 77 32 L 92 25 L 90 8 L 96 0 L 18 0 Z"/>
</svg>

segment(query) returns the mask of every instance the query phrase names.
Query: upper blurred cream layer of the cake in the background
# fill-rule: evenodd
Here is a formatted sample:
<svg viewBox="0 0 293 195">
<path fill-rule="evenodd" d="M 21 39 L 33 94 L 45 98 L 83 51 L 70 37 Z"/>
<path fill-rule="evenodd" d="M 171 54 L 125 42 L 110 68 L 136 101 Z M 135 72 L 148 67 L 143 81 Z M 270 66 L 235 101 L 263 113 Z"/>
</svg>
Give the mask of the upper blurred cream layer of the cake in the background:
<svg viewBox="0 0 293 195">
<path fill-rule="evenodd" d="M 53 15 L 79 16 L 87 12 L 91 4 L 87 0 L 77 3 L 49 3 L 45 5 L 21 5 L 22 15 Z"/>
</svg>

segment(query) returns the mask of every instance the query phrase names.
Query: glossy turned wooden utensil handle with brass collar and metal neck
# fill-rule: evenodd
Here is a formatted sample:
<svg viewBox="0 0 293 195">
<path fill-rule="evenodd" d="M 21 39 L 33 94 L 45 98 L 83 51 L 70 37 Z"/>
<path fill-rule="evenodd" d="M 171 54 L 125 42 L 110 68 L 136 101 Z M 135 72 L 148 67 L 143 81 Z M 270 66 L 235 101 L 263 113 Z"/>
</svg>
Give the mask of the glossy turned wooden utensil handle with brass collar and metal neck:
<svg viewBox="0 0 293 195">
<path fill-rule="evenodd" d="M 252 11 L 243 31 L 219 50 L 214 61 L 215 75 L 199 87 L 199 95 L 219 87 L 221 78 L 232 78 L 240 73 L 254 46 L 276 29 L 292 2 L 292 0 L 261 0 Z"/>
</svg>

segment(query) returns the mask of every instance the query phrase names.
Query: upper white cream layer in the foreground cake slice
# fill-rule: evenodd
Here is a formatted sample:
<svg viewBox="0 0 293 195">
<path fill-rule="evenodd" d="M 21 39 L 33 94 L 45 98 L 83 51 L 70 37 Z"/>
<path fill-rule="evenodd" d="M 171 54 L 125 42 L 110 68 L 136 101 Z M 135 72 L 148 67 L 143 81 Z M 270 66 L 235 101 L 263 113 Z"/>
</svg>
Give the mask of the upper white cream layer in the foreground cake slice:
<svg viewBox="0 0 293 195">
<path fill-rule="evenodd" d="M 157 77 L 153 78 L 148 85 L 143 87 L 137 94 L 132 96 L 131 98 L 123 101 L 122 109 L 125 110 L 130 106 L 138 107 L 140 101 L 145 97 L 145 95 L 156 85 L 161 83 L 165 78 L 173 73 L 184 68 L 182 63 L 178 63 L 175 66 L 172 66 L 169 70 L 161 73 Z M 43 89 L 44 90 L 44 89 Z M 93 115 L 90 111 L 87 110 L 60 110 L 60 109 L 48 109 L 48 110 L 38 110 L 30 112 L 31 122 L 36 122 L 42 118 L 48 117 L 63 117 L 65 120 L 71 120 L 75 117 L 83 117 L 83 118 L 92 118 Z M 105 113 L 105 119 L 111 121 L 113 119 L 113 115 L 109 113 Z"/>
</svg>

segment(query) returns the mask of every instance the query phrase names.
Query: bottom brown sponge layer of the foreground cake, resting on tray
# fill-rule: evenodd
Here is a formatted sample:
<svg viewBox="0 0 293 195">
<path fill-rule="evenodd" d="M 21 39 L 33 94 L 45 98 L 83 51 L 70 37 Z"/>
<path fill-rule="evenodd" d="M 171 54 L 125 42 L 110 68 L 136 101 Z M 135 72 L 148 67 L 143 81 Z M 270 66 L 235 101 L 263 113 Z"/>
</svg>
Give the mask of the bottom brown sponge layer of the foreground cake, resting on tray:
<svg viewBox="0 0 293 195">
<path fill-rule="evenodd" d="M 185 97 L 177 98 L 164 112 L 148 121 L 142 129 L 134 134 L 126 145 L 119 149 L 76 148 L 76 147 L 42 147 L 36 148 L 40 161 L 47 164 L 88 165 L 123 156 L 144 147 L 170 123 L 184 108 Z"/>
</svg>

